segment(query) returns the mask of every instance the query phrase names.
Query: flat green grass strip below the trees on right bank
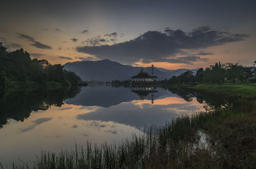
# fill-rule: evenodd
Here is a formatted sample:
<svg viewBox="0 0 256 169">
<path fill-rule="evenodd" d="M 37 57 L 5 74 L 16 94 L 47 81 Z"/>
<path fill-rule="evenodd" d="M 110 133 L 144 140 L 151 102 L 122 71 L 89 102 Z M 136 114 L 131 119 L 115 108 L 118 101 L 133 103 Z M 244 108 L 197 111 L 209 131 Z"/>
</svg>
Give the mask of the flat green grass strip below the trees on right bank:
<svg viewBox="0 0 256 169">
<path fill-rule="evenodd" d="M 254 85 L 195 85 L 189 87 L 197 91 L 212 92 L 216 94 L 228 94 L 230 96 L 256 97 L 256 86 Z"/>
</svg>

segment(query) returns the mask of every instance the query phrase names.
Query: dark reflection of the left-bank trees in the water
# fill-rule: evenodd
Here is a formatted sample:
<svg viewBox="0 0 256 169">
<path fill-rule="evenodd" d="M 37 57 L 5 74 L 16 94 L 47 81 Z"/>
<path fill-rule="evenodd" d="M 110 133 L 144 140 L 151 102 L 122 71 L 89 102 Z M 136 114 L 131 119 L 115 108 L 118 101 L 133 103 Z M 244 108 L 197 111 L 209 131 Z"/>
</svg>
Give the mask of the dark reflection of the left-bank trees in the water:
<svg viewBox="0 0 256 169">
<path fill-rule="evenodd" d="M 68 89 L 67 91 L 31 91 L 13 92 L 11 94 L 2 93 L 0 99 L 0 128 L 8 122 L 8 119 L 24 121 L 31 112 L 47 110 L 51 106 L 61 107 L 63 100 L 74 98 L 79 93 L 80 88 Z"/>
</svg>

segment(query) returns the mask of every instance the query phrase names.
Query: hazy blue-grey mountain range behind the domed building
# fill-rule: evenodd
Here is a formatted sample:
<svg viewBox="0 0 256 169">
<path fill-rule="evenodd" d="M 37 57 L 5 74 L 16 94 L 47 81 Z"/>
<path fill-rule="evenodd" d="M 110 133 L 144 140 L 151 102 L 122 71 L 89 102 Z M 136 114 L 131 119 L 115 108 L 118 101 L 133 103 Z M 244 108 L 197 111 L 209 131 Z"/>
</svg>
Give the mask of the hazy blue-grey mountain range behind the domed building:
<svg viewBox="0 0 256 169">
<path fill-rule="evenodd" d="M 87 82 L 106 82 L 112 80 L 129 80 L 132 76 L 137 75 L 141 68 L 129 65 L 120 64 L 118 62 L 105 59 L 102 61 L 77 61 L 67 62 L 63 65 L 65 70 L 74 71 L 79 77 Z M 151 68 L 145 68 L 148 73 L 151 72 Z M 191 70 L 193 73 L 196 70 Z M 168 79 L 172 76 L 180 75 L 187 71 L 187 69 L 180 70 L 166 70 L 163 68 L 154 68 L 154 75 L 159 80 Z"/>
</svg>

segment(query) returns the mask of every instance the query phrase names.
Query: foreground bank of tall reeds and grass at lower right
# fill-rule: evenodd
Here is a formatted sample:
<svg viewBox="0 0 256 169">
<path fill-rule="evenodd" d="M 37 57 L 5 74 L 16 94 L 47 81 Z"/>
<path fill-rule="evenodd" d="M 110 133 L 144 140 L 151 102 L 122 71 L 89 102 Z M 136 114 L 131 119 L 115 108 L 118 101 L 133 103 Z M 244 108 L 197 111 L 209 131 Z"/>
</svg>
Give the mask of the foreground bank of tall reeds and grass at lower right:
<svg viewBox="0 0 256 169">
<path fill-rule="evenodd" d="M 255 103 L 179 117 L 119 145 L 42 152 L 33 168 L 255 168 Z M 26 165 L 18 168 L 28 168 Z"/>
</svg>

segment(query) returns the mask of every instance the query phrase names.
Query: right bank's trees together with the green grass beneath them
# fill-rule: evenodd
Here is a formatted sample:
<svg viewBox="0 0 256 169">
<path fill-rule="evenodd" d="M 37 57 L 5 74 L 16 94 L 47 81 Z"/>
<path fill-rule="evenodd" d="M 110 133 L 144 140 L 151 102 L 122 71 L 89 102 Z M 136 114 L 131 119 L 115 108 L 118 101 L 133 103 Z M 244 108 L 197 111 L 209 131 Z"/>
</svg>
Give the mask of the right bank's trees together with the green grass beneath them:
<svg viewBox="0 0 256 169">
<path fill-rule="evenodd" d="M 179 76 L 159 82 L 164 85 L 177 85 L 196 91 L 228 94 L 228 96 L 242 96 L 255 98 L 256 96 L 256 61 L 253 66 L 216 62 L 215 65 L 200 68 L 193 75 L 186 71 Z"/>
</svg>

